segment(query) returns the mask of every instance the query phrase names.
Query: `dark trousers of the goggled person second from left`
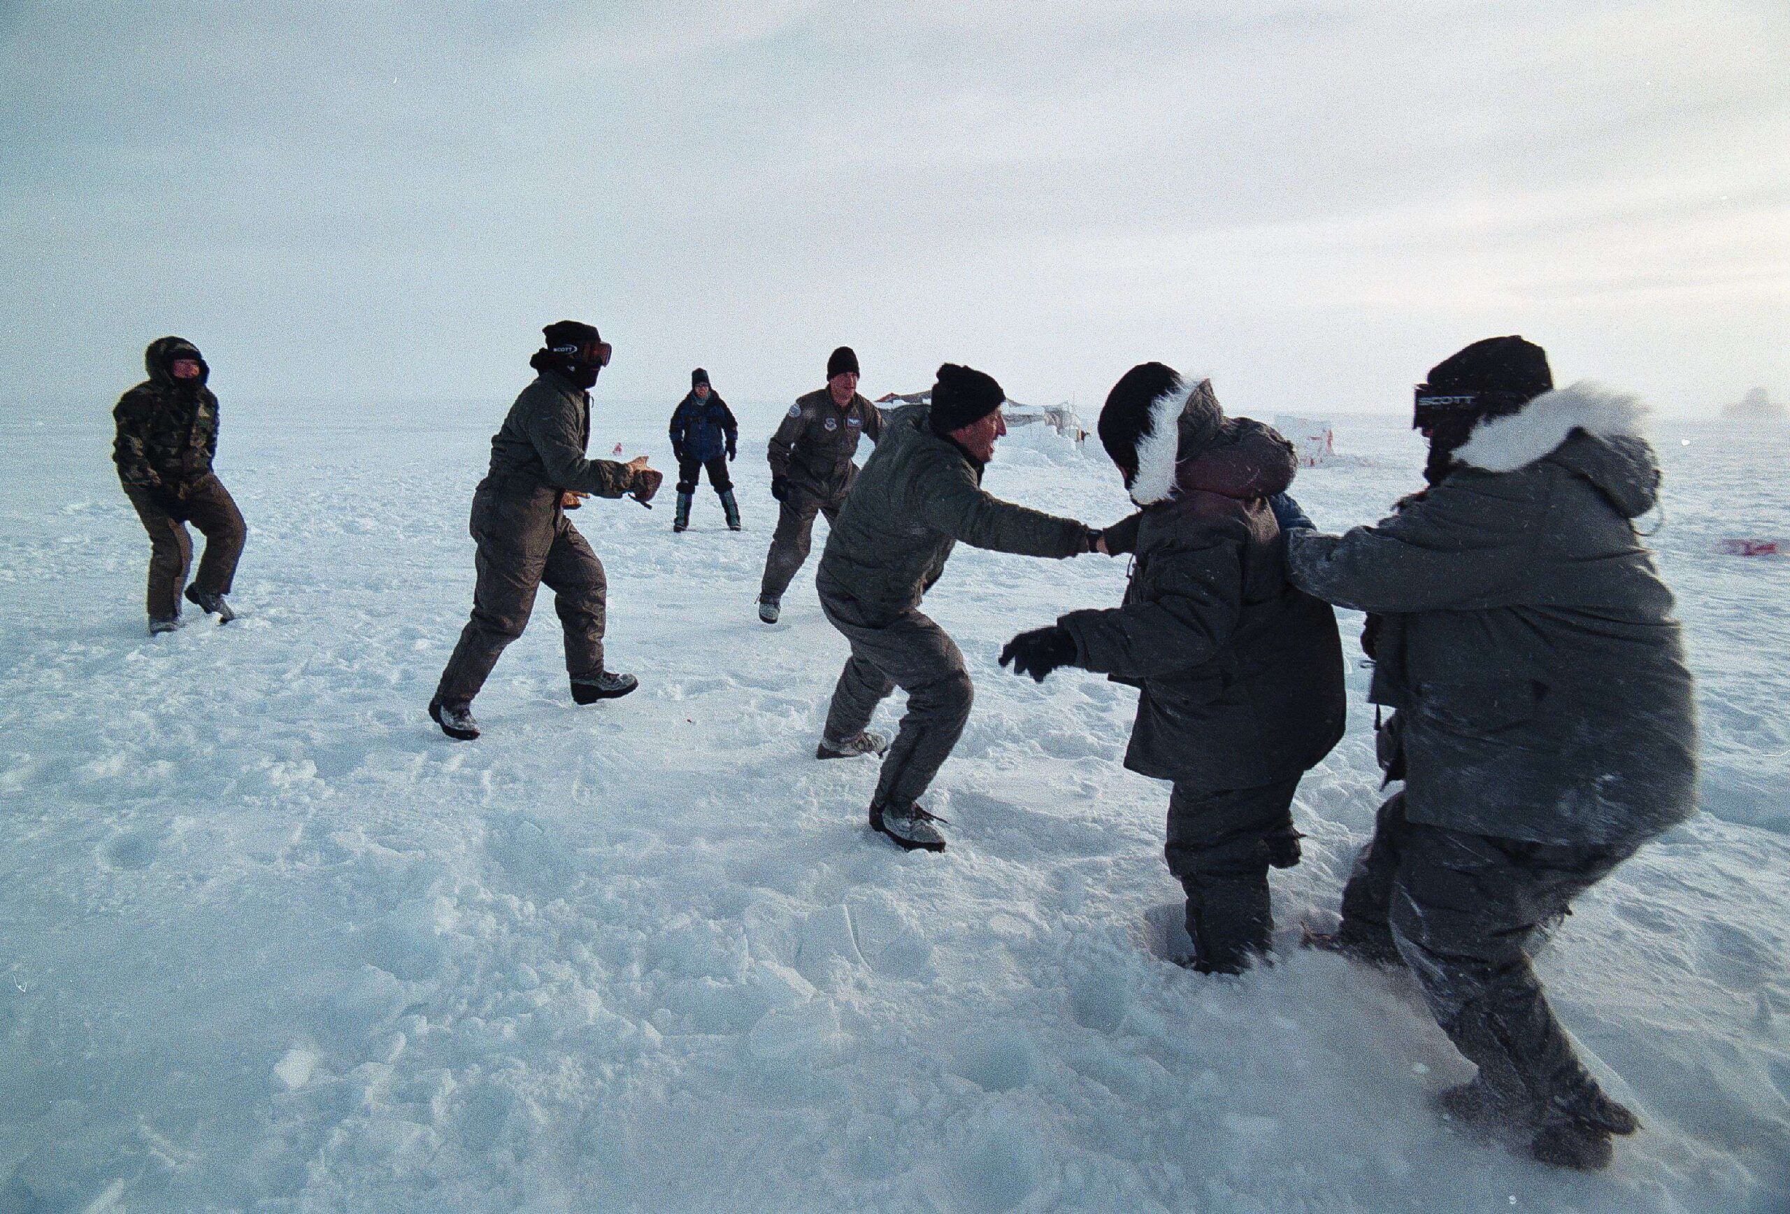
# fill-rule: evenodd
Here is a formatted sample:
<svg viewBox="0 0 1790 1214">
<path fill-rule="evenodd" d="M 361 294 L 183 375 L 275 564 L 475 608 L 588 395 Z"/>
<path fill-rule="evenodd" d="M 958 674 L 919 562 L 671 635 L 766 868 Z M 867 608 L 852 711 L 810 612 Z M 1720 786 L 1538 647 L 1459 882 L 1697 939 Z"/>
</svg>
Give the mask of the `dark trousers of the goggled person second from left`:
<svg viewBox="0 0 1790 1214">
<path fill-rule="evenodd" d="M 603 673 L 603 628 L 609 584 L 603 562 L 566 519 L 558 489 L 496 491 L 487 483 L 473 494 L 473 541 L 478 584 L 473 618 L 460 632 L 435 698 L 471 704 L 503 648 L 523 636 L 535 607 L 535 591 L 553 591 L 553 611 L 566 632 L 566 671 L 573 679 Z"/>
</svg>

